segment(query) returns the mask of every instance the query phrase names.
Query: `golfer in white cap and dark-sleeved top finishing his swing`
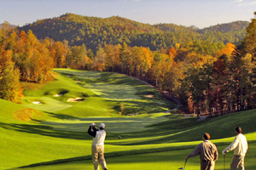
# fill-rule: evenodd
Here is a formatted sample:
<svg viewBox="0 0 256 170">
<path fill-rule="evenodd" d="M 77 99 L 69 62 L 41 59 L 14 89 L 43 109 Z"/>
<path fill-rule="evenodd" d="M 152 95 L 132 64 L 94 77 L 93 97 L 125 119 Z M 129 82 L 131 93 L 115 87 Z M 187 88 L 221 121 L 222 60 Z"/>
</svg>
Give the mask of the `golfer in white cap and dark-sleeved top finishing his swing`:
<svg viewBox="0 0 256 170">
<path fill-rule="evenodd" d="M 96 129 L 96 124 L 91 123 L 88 129 L 88 133 L 93 137 L 91 144 L 91 155 L 94 164 L 94 169 L 99 170 L 100 161 L 102 169 L 107 170 L 107 164 L 104 158 L 104 140 L 106 138 L 106 132 L 104 131 L 105 124 L 100 124 L 100 129 Z"/>
</svg>

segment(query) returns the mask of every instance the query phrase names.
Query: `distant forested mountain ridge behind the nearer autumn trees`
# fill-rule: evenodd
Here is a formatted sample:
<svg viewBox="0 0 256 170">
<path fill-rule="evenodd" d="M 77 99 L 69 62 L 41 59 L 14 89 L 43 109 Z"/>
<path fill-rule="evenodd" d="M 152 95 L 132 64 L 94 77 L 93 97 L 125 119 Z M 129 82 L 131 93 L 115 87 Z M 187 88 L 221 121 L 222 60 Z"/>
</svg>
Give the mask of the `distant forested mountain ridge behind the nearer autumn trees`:
<svg viewBox="0 0 256 170">
<path fill-rule="evenodd" d="M 203 30 L 174 24 L 149 25 L 119 16 L 102 19 L 78 14 L 63 14 L 60 17 L 38 20 L 20 31 L 32 30 L 38 39 L 49 37 L 55 41 L 67 40 L 70 46 L 80 46 L 96 52 L 99 44 L 121 44 L 131 47 L 148 47 L 151 50 L 171 48 L 188 42 L 228 43 L 240 42 L 245 36 L 248 22 L 211 26 Z"/>
</svg>

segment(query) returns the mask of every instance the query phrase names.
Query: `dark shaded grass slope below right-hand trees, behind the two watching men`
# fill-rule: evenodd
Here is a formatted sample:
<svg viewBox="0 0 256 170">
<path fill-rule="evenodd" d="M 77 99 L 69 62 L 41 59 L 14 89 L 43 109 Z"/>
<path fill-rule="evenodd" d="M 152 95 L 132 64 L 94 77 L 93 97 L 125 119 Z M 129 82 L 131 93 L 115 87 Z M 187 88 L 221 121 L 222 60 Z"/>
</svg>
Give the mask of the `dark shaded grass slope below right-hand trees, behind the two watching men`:
<svg viewBox="0 0 256 170">
<path fill-rule="evenodd" d="M 256 132 L 255 127 L 253 127 L 255 116 L 256 114 L 253 114 L 253 111 L 243 111 L 209 118 L 201 122 L 196 122 L 193 117 L 179 120 L 174 118 L 148 126 L 155 127 L 153 130 L 124 133 L 122 139 L 132 140 L 124 140 L 119 144 L 137 145 L 200 141 L 203 133 L 210 133 L 211 139 L 235 138 L 235 128 L 240 125 L 242 125 L 245 135 Z"/>
</svg>

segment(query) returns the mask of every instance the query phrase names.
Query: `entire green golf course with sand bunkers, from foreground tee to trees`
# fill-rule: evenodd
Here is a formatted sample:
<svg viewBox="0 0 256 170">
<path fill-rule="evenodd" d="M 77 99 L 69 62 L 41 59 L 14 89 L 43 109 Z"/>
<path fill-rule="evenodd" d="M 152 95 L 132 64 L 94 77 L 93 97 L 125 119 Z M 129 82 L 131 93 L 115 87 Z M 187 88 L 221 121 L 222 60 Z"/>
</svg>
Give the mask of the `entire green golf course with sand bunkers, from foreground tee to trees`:
<svg viewBox="0 0 256 170">
<path fill-rule="evenodd" d="M 92 122 L 104 122 L 108 170 L 184 167 L 203 133 L 210 133 L 218 148 L 215 169 L 229 169 L 233 151 L 225 159 L 221 151 L 238 126 L 248 141 L 245 167 L 255 170 L 256 110 L 196 121 L 177 114 L 175 102 L 132 77 L 72 69 L 54 69 L 51 75 L 44 84 L 22 82 L 20 105 L 0 99 L 0 169 L 92 170 L 87 130 Z M 200 169 L 199 156 L 189 158 L 185 169 Z"/>
</svg>

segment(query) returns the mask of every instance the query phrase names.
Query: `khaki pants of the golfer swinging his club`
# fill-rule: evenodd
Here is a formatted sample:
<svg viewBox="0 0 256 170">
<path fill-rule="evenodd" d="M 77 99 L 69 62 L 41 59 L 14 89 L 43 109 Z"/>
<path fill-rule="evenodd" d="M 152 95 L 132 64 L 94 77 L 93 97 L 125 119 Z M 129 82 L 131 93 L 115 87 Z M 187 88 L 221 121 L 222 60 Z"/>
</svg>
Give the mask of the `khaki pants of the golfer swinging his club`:
<svg viewBox="0 0 256 170">
<path fill-rule="evenodd" d="M 91 146 L 91 155 L 95 170 L 100 170 L 98 161 L 100 161 L 102 169 L 107 169 L 107 164 L 104 158 L 104 145 Z"/>
</svg>

